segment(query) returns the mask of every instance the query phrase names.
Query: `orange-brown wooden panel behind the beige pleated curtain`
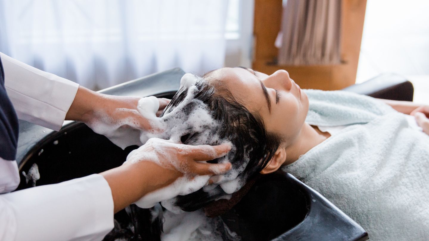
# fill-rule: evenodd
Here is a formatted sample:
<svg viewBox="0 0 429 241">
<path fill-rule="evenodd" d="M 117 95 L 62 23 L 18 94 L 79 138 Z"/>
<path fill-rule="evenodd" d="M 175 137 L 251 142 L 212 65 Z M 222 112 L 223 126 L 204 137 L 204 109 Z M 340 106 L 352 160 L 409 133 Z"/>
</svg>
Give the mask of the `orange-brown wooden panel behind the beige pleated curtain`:
<svg viewBox="0 0 429 241">
<path fill-rule="evenodd" d="M 277 65 L 275 38 L 281 27 L 282 0 L 255 0 L 252 68 L 272 74 L 286 69 L 302 88 L 339 90 L 356 81 L 366 0 L 342 0 L 341 63 L 335 65 Z"/>
</svg>

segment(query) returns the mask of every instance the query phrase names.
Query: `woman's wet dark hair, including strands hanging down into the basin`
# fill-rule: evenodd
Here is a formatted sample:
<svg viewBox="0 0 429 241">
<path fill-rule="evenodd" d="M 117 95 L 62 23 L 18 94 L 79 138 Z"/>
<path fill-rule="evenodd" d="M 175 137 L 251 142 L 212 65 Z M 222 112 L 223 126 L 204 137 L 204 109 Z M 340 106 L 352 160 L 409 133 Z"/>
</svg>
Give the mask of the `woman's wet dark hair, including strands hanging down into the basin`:
<svg viewBox="0 0 429 241">
<path fill-rule="evenodd" d="M 249 159 L 246 168 L 239 175 L 242 181 L 247 181 L 264 169 L 274 156 L 282 139 L 276 133 L 267 132 L 260 115 L 251 113 L 242 103 L 236 101 L 230 91 L 220 84 L 220 81 L 211 78 L 209 73 L 203 75 L 202 81 L 196 83 L 197 91 L 194 99 L 205 103 L 211 117 L 221 124 L 215 130 L 205 131 L 208 131 L 211 135 L 217 135 L 220 139 L 230 140 L 236 147 L 228 153 L 228 160 L 230 160 L 233 169 L 242 166 L 243 159 Z M 178 107 L 184 101 L 186 95 L 187 89 L 181 88 L 167 105 L 163 114 L 167 114 Z M 192 111 L 192 102 L 187 105 L 191 106 L 187 106 L 187 108 L 183 108 L 180 111 Z M 216 141 L 210 142 L 209 140 L 204 142 L 200 135 L 201 133 L 192 133 L 192 131 L 185 132 L 181 136 L 181 142 L 187 145 L 221 144 Z M 213 160 L 211 162 L 216 163 L 217 161 Z M 188 195 L 178 196 L 175 205 L 184 211 L 195 211 L 209 202 L 226 195 L 228 194 L 220 186 L 215 187 L 210 193 L 200 189 Z M 118 237 L 127 237 L 129 240 L 160 241 L 161 232 L 163 232 L 162 214 L 164 211 L 161 205 L 158 204 L 153 208 L 144 209 L 132 204 L 126 210 L 126 213 L 122 211 L 115 214 L 115 219 L 131 219 L 130 223 L 122 226 L 122 224 L 115 222 L 114 231 L 104 238 L 105 241 L 116 240 Z M 222 232 L 223 229 L 225 227 L 221 227 L 219 230 Z"/>
</svg>

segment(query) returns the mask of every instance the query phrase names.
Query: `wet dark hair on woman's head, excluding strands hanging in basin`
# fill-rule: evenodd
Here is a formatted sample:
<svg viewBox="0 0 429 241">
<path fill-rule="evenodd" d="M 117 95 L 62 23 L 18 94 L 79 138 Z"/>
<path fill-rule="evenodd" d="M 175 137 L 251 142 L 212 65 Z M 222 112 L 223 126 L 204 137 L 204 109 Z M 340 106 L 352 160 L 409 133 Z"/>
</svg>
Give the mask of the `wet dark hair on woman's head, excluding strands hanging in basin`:
<svg viewBox="0 0 429 241">
<path fill-rule="evenodd" d="M 252 178 L 253 175 L 263 170 L 275 154 L 281 144 L 281 136 L 269 133 L 258 113 L 251 113 L 242 103 L 214 78 L 210 72 L 202 75 L 202 81 L 196 83 L 194 99 L 202 101 L 208 106 L 211 117 L 220 123 L 220 128 L 210 130 L 211 135 L 217 134 L 220 139 L 228 139 L 236 147 L 228 153 L 228 159 L 232 169 L 242 165 L 242 160 L 247 156 L 249 162 L 244 171 L 239 174 L 243 181 Z M 177 107 L 187 96 L 187 89 L 181 88 L 171 102 L 165 108 L 167 114 Z M 186 109 L 184 110 L 186 111 Z M 181 141 L 187 145 L 219 145 L 217 141 L 201 143 L 199 133 L 187 133 L 181 137 Z M 211 161 L 216 163 L 217 160 Z M 202 189 L 184 196 L 178 196 L 175 205 L 184 211 L 195 211 L 204 207 L 207 203 L 228 195 L 220 186 L 210 194 Z"/>
</svg>

